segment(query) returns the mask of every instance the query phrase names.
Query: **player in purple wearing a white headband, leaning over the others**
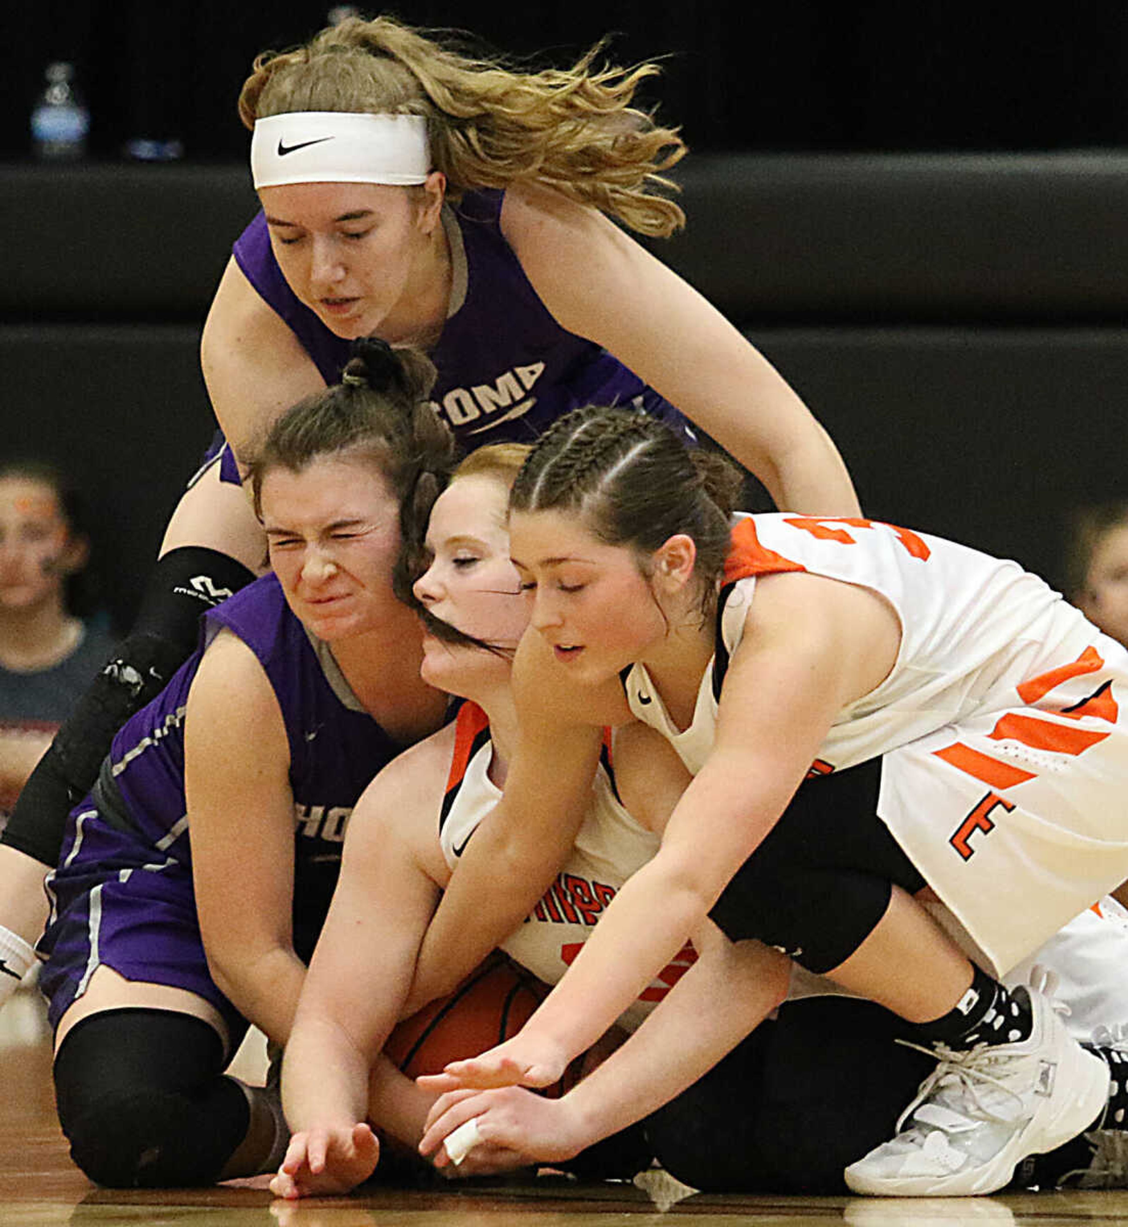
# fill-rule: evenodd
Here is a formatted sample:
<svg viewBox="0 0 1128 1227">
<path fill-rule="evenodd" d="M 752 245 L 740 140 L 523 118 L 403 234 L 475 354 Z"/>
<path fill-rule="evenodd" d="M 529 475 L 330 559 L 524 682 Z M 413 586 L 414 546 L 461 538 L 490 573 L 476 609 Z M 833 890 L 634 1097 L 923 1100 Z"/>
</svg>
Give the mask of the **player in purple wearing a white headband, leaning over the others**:
<svg viewBox="0 0 1128 1227">
<path fill-rule="evenodd" d="M 508 71 L 389 18 L 350 20 L 260 59 L 241 112 L 265 217 L 236 244 L 203 340 L 233 455 L 182 499 L 134 633 L 2 834 L 0 957 L 12 967 L 31 963 L 43 866 L 114 730 L 193 649 L 199 615 L 260 566 L 234 458 L 284 406 L 338 378 L 351 339 L 428 350 L 435 406 L 466 448 L 530 438 L 590 401 L 669 420 L 676 406 L 778 506 L 857 514 L 841 458 L 799 398 L 615 225 L 662 236 L 682 221 L 654 189 L 684 145 L 631 106 L 655 72 L 599 67 L 594 53 L 565 72 Z M 508 854 L 540 864 L 528 847 Z"/>
</svg>

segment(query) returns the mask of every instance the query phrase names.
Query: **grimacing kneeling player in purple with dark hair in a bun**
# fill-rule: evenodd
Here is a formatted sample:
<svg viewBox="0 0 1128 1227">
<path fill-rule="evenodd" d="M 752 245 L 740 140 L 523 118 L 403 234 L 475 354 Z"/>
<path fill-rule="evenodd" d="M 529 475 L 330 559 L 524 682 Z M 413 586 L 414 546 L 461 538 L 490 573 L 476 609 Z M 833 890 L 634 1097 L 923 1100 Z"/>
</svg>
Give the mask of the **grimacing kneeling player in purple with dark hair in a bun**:
<svg viewBox="0 0 1128 1227">
<path fill-rule="evenodd" d="M 99 1184 L 276 1166 L 276 1099 L 222 1070 L 248 1022 L 286 1042 L 352 805 L 446 719 L 393 568 L 453 440 L 426 358 L 365 355 L 276 423 L 250 471 L 275 573 L 207 614 L 114 737 L 49 880 L 59 1117 Z M 420 1096 L 399 1092 L 387 1124 L 411 1141 Z"/>
</svg>

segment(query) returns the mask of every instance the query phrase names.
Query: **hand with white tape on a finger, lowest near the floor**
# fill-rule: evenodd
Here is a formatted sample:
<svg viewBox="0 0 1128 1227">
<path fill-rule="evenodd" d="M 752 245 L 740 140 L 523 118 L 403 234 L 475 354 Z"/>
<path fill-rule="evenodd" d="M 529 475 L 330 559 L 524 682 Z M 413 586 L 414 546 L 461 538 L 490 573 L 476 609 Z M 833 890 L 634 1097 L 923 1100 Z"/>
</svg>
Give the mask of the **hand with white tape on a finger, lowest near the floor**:
<svg viewBox="0 0 1128 1227">
<path fill-rule="evenodd" d="M 459 1156 L 465 1156 L 469 1166 L 479 1150 L 489 1155 L 507 1152 L 523 1163 L 558 1163 L 583 1146 L 579 1121 L 567 1097 L 545 1099 L 509 1086 L 439 1096 L 427 1115 L 419 1150 L 443 1168 L 462 1162 Z"/>
</svg>

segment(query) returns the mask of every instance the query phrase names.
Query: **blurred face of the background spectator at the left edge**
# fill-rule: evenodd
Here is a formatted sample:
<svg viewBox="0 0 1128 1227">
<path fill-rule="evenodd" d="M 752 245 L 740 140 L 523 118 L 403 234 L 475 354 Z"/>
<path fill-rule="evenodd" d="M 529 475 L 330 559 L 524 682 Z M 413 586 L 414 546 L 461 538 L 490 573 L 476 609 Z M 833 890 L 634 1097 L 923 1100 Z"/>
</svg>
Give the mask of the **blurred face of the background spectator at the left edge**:
<svg viewBox="0 0 1128 1227">
<path fill-rule="evenodd" d="M 59 497 L 29 477 L 0 479 L 0 609 L 55 599 L 77 562 Z"/>
</svg>

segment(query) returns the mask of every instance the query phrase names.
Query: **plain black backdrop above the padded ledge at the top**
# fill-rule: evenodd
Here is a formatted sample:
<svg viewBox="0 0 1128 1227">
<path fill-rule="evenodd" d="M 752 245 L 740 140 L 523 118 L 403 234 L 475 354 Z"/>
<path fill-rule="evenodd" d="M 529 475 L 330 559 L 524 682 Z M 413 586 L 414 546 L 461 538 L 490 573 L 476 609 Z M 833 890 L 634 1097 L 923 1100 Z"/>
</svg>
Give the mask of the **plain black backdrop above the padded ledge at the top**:
<svg viewBox="0 0 1128 1227">
<path fill-rule="evenodd" d="M 378 6 L 361 6 L 366 12 Z M 49 59 L 79 66 L 95 148 L 178 135 L 193 158 L 241 157 L 234 98 L 254 54 L 325 23 L 317 0 L 38 0 L 9 43 L 0 155 L 27 148 Z M 668 56 L 652 91 L 708 150 L 992 150 L 1128 136 L 1128 6 L 1075 0 L 400 0 L 404 21 L 474 31 L 561 63 L 603 34 L 622 60 Z M 18 52 L 14 54 L 14 48 Z"/>
</svg>

